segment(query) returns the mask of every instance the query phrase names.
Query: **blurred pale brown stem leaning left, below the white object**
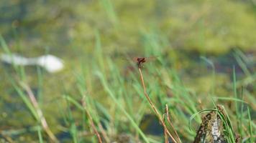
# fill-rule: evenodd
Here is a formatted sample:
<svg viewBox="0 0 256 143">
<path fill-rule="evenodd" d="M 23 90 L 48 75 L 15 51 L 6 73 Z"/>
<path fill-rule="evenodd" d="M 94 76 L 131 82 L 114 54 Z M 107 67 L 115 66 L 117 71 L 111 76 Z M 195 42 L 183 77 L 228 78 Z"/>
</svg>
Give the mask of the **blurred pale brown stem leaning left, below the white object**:
<svg viewBox="0 0 256 143">
<path fill-rule="evenodd" d="M 46 119 L 44 117 L 44 115 L 42 114 L 42 110 L 40 109 L 38 103 L 37 103 L 37 99 L 35 99 L 35 95 L 33 94 L 32 90 L 30 89 L 30 87 L 25 84 L 24 82 L 20 82 L 20 85 L 25 89 L 25 91 L 27 92 L 30 102 L 32 102 L 33 107 L 35 108 L 35 111 L 37 112 L 37 116 L 40 119 L 40 122 L 42 124 L 42 129 L 45 130 L 46 134 L 50 137 L 50 139 L 52 140 L 52 142 L 58 142 L 58 139 L 55 137 L 55 135 L 52 133 L 52 131 L 50 130 Z"/>
</svg>

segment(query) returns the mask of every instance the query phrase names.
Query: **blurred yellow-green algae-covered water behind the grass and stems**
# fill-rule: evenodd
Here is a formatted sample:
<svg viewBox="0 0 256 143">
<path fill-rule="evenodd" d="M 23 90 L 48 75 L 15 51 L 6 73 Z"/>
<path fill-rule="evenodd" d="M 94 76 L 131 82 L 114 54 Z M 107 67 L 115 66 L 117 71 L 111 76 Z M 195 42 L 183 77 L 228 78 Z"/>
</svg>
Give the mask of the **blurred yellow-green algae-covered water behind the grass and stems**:
<svg viewBox="0 0 256 143">
<path fill-rule="evenodd" d="M 96 71 L 100 70 L 104 76 L 114 78 L 109 65 L 115 65 L 115 70 L 120 71 L 121 78 L 126 82 L 124 85 L 135 92 L 132 88 L 134 78 L 126 74 L 130 66 L 130 62 L 124 60 L 127 56 L 157 56 L 152 70 L 147 71 L 150 67 L 145 65 L 149 92 L 170 94 L 168 96 L 172 97 L 168 89 L 161 87 L 162 82 L 173 82 L 167 81 L 162 69 L 167 69 L 167 74 L 168 69 L 172 69 L 189 94 L 198 97 L 195 101 L 203 102 L 202 109 L 213 107 L 209 97 L 213 84 L 215 97 L 233 96 L 234 68 L 239 92 L 244 91 L 242 98 L 251 108 L 255 124 L 255 0 L 1 0 L 0 34 L 12 53 L 26 57 L 53 54 L 65 61 L 63 71 L 55 74 L 42 71 L 41 79 L 38 78 L 36 67 L 25 67 L 26 81 L 38 94 L 45 118 L 61 142 L 72 140 L 72 135 L 68 133 L 69 125 L 62 118 L 67 107 L 62 97 L 63 94 L 70 94 L 74 99 L 81 98 L 76 96 L 79 94 L 75 86 L 79 82 L 78 74 L 86 73 L 86 91 L 91 94 L 92 100 L 103 104 L 111 116 L 114 116 L 115 108 L 97 79 Z M 4 50 L 0 49 L 0 52 L 4 53 Z M 214 64 L 214 69 L 211 64 Z M 134 70 L 135 79 L 136 72 Z M 154 79 L 152 73 L 161 78 Z M 38 122 L 35 122 L 9 82 L 10 75 L 17 79 L 12 66 L 1 64 L 0 134 L 11 137 L 15 142 L 37 142 L 37 132 L 32 127 Z M 115 79 L 106 79 L 112 86 L 111 80 Z M 154 92 L 155 82 L 160 92 Z M 113 86 L 117 93 L 118 86 Z M 140 99 L 135 99 L 137 102 Z M 229 113 L 235 114 L 232 102 L 222 101 L 220 104 L 227 105 Z M 163 107 L 159 105 L 159 108 Z M 197 109 L 200 110 L 199 107 Z M 74 120 L 81 121 L 78 109 L 71 110 Z M 149 114 L 150 109 L 146 113 Z M 178 132 L 179 127 L 183 126 L 180 124 L 188 126 L 188 118 L 184 122 L 176 120 Z M 108 132 L 114 137 L 122 132 L 132 134 L 132 129 L 128 127 L 112 126 L 111 129 L 116 130 Z M 144 126 L 147 128 L 148 125 Z M 140 123 L 140 127 L 143 129 L 143 124 Z M 78 127 L 78 130 L 83 129 Z M 149 129 L 144 130 L 147 132 Z M 194 135 L 195 132 L 184 133 L 182 139 L 191 142 Z M 242 135 L 246 137 L 246 132 Z M 134 137 L 134 134 L 131 136 Z M 44 139 L 47 140 L 47 137 Z M 81 139 L 79 142 L 90 141 Z"/>
</svg>

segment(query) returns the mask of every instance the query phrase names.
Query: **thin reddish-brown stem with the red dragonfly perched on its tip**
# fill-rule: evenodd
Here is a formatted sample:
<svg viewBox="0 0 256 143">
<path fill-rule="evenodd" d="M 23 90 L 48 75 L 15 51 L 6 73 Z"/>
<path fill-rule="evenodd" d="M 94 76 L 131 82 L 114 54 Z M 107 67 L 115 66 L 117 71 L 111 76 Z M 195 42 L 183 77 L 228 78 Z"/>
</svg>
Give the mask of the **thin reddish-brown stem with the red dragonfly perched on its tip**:
<svg viewBox="0 0 256 143">
<path fill-rule="evenodd" d="M 147 90 L 146 90 L 146 87 L 145 87 L 145 83 L 144 83 L 144 79 L 143 79 L 143 76 L 142 76 L 142 70 L 140 69 L 140 66 L 139 66 L 139 72 L 140 72 L 140 80 L 142 82 L 142 87 L 144 89 L 144 95 L 145 97 L 147 98 L 147 101 L 150 103 L 150 107 L 152 107 L 153 111 L 155 112 L 155 114 L 157 115 L 159 121 L 161 122 L 161 124 L 163 125 L 164 129 L 166 128 L 165 126 L 165 122 L 163 122 L 163 119 L 160 115 L 160 113 L 157 111 L 157 108 L 155 107 L 155 104 L 153 104 L 153 102 L 151 101 L 150 97 L 148 96 L 147 94 Z M 166 129 L 166 132 L 167 134 L 170 136 L 171 139 L 173 139 L 173 142 L 177 143 L 177 141 L 174 139 L 174 137 L 170 134 L 170 132 L 168 131 L 168 129 Z"/>
</svg>

